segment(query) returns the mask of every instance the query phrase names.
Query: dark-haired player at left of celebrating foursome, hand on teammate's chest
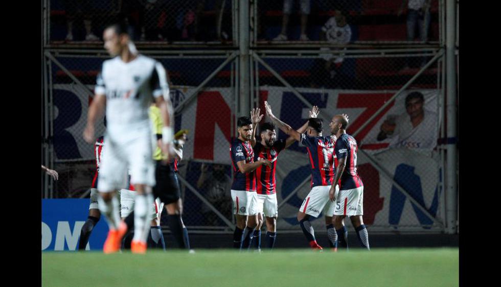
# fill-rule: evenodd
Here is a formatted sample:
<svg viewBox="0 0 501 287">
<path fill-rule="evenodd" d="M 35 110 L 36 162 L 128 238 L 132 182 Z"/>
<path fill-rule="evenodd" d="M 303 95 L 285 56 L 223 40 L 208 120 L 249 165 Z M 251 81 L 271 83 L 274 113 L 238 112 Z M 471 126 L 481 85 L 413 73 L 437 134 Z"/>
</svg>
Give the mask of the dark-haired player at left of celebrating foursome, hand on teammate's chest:
<svg viewBox="0 0 501 287">
<path fill-rule="evenodd" d="M 234 172 L 231 194 L 233 212 L 237 220 L 237 226 L 233 233 L 233 247 L 242 249 L 244 248 L 244 238 L 251 238 L 257 225 L 257 194 L 254 171 L 263 164 L 271 166 L 271 162 L 267 159 L 254 161 L 254 151 L 250 140 L 254 137 L 255 130 L 253 129 L 253 121 L 248 116 L 238 118 L 237 130 L 238 137 L 232 141 L 230 146 Z M 249 239 L 247 242 L 248 245 L 245 248 L 248 248 L 251 243 Z"/>
</svg>

